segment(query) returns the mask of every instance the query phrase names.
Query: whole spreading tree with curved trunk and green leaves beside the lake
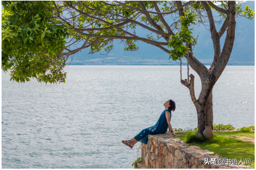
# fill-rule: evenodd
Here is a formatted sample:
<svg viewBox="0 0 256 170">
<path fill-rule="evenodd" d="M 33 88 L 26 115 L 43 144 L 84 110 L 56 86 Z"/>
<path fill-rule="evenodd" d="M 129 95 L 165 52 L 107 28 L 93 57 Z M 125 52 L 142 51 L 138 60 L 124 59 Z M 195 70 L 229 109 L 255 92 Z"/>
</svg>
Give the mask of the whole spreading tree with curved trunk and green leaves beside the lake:
<svg viewBox="0 0 256 170">
<path fill-rule="evenodd" d="M 214 3 L 219 2 L 221 7 Z M 109 53 L 113 40 L 124 43 L 124 50 L 136 51 L 137 41 L 154 45 L 169 54 L 169 59 L 185 57 L 200 76 L 202 90 L 194 93 L 194 76 L 181 83 L 190 90 L 198 116 L 198 131 L 213 127 L 212 88 L 228 63 L 235 38 L 235 18 L 254 18 L 248 6 L 235 1 L 52 1 L 2 2 L 2 69 L 12 67 L 11 80 L 37 78 L 39 82 L 64 82 L 66 59 L 90 47 L 90 53 Z M 216 20 L 212 10 L 220 14 Z M 172 18 L 171 23 L 167 18 Z M 46 24 L 47 23 L 47 24 Z M 214 47 L 210 68 L 193 53 L 197 38 L 192 26 L 202 24 L 210 29 Z M 219 31 L 216 24 L 222 24 Z M 136 35 L 136 27 L 152 33 Z M 47 31 L 48 30 L 48 31 Z M 223 48 L 220 38 L 226 31 Z M 70 37 L 70 38 L 69 38 Z M 28 40 L 28 41 L 27 41 Z M 76 47 L 79 42 L 82 46 Z M 196 55 L 196 54 L 195 54 Z M 50 71 L 49 73 L 47 71 Z"/>
</svg>

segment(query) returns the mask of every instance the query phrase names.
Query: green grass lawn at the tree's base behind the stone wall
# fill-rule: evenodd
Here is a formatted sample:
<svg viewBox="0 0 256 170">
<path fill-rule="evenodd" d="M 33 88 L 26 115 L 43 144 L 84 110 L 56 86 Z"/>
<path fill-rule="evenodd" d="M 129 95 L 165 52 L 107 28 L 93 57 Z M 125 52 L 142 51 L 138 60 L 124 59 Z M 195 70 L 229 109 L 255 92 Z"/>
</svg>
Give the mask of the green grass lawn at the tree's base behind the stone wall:
<svg viewBox="0 0 256 170">
<path fill-rule="evenodd" d="M 202 139 L 193 135 L 195 132 L 188 133 L 176 133 L 179 139 L 184 142 L 190 143 L 190 145 L 196 145 L 202 149 L 207 149 L 214 154 L 222 155 L 229 159 L 238 159 L 238 163 L 242 158 L 244 163 L 245 158 L 251 159 L 251 167 L 255 167 L 255 156 L 254 156 L 254 144 L 245 139 L 239 139 L 246 137 L 254 140 L 254 131 L 243 132 L 243 131 L 227 131 L 227 132 L 214 132 L 213 139 Z M 247 164 L 246 164 L 247 165 Z"/>
</svg>

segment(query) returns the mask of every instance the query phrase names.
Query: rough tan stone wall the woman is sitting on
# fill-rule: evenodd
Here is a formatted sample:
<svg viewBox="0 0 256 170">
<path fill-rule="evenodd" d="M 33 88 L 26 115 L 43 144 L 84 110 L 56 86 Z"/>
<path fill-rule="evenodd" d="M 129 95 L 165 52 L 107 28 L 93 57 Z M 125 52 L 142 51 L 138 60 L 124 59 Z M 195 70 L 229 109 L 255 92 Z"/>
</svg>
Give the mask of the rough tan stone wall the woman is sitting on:
<svg viewBox="0 0 256 170">
<path fill-rule="evenodd" d="M 221 155 L 209 150 L 183 143 L 170 134 L 148 135 L 148 144 L 142 143 L 141 156 L 144 163 L 137 163 L 138 168 L 252 168 L 244 165 L 218 164 Z M 204 165 L 204 158 L 216 158 L 216 165 Z"/>
</svg>

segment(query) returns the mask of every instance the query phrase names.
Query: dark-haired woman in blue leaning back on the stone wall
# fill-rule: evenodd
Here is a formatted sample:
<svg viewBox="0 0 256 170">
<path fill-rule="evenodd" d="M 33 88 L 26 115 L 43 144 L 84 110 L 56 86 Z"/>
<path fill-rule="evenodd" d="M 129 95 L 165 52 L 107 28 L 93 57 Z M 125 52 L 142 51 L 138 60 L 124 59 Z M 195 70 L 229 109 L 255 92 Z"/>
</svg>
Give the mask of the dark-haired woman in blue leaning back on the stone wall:
<svg viewBox="0 0 256 170">
<path fill-rule="evenodd" d="M 125 145 L 132 148 L 138 141 L 147 144 L 148 143 L 148 135 L 157 135 L 157 134 L 163 134 L 167 132 L 167 128 L 169 127 L 169 132 L 172 133 L 172 135 L 177 136 L 173 130 L 172 125 L 170 123 L 171 121 L 171 111 L 174 111 L 176 106 L 175 102 L 173 100 L 167 100 L 164 103 L 165 110 L 160 115 L 156 125 L 149 127 L 147 129 L 143 129 L 138 135 L 136 135 L 134 138 L 126 141 L 122 141 Z"/>
</svg>

